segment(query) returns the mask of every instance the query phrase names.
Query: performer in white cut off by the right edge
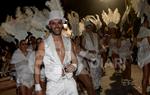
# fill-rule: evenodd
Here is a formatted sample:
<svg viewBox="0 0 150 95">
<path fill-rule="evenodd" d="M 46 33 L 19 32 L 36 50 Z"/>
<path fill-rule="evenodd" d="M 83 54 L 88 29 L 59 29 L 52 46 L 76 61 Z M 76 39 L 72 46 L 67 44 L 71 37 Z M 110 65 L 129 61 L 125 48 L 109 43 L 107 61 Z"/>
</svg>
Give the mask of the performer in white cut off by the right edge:
<svg viewBox="0 0 150 95">
<path fill-rule="evenodd" d="M 148 29 L 149 21 L 145 17 L 144 22 L 137 35 L 138 45 L 138 65 L 142 68 L 142 95 L 148 95 L 147 88 L 150 77 L 150 29 Z"/>
</svg>

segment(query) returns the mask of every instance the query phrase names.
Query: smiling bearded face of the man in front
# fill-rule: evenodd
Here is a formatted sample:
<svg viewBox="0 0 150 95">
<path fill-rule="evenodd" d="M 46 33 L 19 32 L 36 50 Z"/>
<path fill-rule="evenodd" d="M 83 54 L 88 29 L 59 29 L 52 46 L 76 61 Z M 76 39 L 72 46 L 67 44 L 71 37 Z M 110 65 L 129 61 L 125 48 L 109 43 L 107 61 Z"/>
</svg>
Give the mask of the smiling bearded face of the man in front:
<svg viewBox="0 0 150 95">
<path fill-rule="evenodd" d="M 60 19 L 54 19 L 49 22 L 49 27 L 52 29 L 53 34 L 60 35 L 63 29 L 63 23 Z"/>
</svg>

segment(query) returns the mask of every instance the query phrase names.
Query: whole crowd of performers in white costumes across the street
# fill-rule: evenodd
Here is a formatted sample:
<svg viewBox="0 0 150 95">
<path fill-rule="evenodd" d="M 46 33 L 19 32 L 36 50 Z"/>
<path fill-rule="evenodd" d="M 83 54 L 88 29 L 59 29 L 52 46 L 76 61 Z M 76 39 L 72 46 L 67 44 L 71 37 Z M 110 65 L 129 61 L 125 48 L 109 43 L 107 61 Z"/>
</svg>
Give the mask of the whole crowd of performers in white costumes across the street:
<svg viewBox="0 0 150 95">
<path fill-rule="evenodd" d="M 85 17 L 81 35 L 66 36 L 60 11 L 51 11 L 49 17 L 44 37 L 28 32 L 15 43 L 1 39 L 5 43 L 0 46 L 1 77 L 10 75 L 15 80 L 17 95 L 100 95 L 108 60 L 115 76 L 122 77 L 122 86 L 132 85 L 131 64 L 137 62 L 143 72 L 142 95 L 148 95 L 150 25 L 146 15 L 136 35 L 131 23 L 126 30 L 114 22 L 98 27 L 91 16 Z"/>
</svg>

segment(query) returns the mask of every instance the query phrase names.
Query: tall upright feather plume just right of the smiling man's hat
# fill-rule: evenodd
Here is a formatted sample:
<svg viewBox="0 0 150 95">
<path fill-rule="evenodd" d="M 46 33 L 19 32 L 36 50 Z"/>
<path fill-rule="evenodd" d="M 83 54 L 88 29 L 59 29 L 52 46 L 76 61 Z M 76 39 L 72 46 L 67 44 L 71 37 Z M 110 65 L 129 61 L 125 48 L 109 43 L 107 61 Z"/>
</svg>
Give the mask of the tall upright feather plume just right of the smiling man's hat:
<svg viewBox="0 0 150 95">
<path fill-rule="evenodd" d="M 79 14 L 75 11 L 71 11 L 71 13 L 68 13 L 67 17 L 71 25 L 73 36 L 79 36 Z"/>
</svg>

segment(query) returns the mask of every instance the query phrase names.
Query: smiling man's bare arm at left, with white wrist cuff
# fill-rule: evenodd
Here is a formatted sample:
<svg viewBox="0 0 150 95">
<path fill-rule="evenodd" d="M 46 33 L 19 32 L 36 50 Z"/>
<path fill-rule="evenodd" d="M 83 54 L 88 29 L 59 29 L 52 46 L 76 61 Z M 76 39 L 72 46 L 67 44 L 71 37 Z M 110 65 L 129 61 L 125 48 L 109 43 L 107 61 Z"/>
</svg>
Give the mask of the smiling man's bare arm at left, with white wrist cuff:
<svg viewBox="0 0 150 95">
<path fill-rule="evenodd" d="M 38 50 L 36 52 L 36 56 L 35 56 L 35 90 L 36 91 L 41 91 L 41 87 L 40 87 L 40 67 L 43 61 L 43 57 L 44 57 L 44 42 L 41 42 L 38 46 Z"/>
</svg>

